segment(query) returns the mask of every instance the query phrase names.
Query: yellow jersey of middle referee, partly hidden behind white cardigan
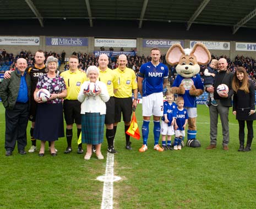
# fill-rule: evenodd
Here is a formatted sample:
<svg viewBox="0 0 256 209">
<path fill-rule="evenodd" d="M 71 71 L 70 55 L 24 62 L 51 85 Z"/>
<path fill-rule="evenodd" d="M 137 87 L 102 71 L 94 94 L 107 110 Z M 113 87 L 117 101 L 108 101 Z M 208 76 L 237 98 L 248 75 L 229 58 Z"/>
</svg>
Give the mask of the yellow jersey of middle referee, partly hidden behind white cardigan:
<svg viewBox="0 0 256 209">
<path fill-rule="evenodd" d="M 105 71 L 100 70 L 99 80 L 106 84 L 108 94 L 110 96 L 114 96 L 114 89 L 119 89 L 117 74 L 115 74 L 110 68 L 107 68 Z"/>
</svg>

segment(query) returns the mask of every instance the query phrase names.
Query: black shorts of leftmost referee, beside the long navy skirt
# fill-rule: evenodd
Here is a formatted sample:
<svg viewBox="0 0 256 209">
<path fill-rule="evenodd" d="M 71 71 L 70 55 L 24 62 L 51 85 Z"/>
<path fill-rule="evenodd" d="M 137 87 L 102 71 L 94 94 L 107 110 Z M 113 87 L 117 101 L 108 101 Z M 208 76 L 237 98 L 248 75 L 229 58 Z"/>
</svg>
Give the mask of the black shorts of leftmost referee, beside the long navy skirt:
<svg viewBox="0 0 256 209">
<path fill-rule="evenodd" d="M 66 124 L 81 124 L 81 103 L 78 100 L 64 100 L 63 111 Z"/>
</svg>

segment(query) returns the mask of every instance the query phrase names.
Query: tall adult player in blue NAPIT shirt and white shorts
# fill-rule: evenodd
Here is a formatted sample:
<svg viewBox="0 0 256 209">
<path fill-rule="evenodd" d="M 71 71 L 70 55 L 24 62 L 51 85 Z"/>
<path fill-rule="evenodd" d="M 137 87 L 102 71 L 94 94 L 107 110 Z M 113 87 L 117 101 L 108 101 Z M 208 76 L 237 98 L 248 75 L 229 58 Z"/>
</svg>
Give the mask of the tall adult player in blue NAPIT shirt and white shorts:
<svg viewBox="0 0 256 209">
<path fill-rule="evenodd" d="M 142 98 L 143 125 L 141 127 L 143 146 L 140 152 L 148 150 L 149 122 L 154 119 L 154 150 L 164 151 L 158 144 L 160 137 L 160 119 L 163 115 L 164 97 L 163 90 L 168 80 L 168 67 L 160 63 L 161 53 L 159 48 L 151 49 L 151 61 L 140 67 L 138 74 L 138 89 Z"/>
</svg>

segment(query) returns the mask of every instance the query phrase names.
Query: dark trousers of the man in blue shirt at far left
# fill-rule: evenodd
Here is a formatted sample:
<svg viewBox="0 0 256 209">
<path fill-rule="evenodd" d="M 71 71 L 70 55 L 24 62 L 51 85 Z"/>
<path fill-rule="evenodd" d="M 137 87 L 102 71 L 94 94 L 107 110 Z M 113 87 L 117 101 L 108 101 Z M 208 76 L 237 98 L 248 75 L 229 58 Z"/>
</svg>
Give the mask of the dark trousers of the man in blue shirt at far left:
<svg viewBox="0 0 256 209">
<path fill-rule="evenodd" d="M 6 150 L 13 151 L 17 141 L 18 150 L 26 146 L 26 127 L 29 120 L 29 103 L 17 102 L 13 109 L 6 109 Z"/>
</svg>

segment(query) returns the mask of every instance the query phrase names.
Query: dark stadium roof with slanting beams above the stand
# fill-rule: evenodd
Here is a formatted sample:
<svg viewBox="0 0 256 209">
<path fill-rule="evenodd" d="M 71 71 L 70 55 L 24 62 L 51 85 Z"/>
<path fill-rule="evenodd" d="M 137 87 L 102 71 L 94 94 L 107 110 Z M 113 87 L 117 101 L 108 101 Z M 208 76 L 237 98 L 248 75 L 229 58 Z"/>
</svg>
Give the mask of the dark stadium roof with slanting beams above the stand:
<svg viewBox="0 0 256 209">
<path fill-rule="evenodd" d="M 94 27 L 97 21 L 133 22 L 138 28 L 147 21 L 179 23 L 184 31 L 193 25 L 230 27 L 233 34 L 241 27 L 256 29 L 256 0 L 0 0 L 1 20 L 48 21 L 85 20 Z"/>
</svg>

